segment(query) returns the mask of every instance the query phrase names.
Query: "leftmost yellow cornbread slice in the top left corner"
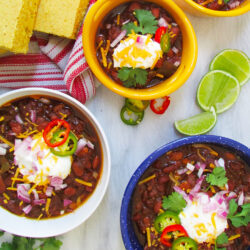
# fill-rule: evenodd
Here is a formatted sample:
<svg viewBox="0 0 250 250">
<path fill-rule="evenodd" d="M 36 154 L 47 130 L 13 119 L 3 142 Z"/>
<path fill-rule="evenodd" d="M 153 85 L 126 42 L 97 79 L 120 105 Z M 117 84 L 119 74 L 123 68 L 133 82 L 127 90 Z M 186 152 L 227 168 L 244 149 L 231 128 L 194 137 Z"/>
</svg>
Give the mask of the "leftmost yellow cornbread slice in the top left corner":
<svg viewBox="0 0 250 250">
<path fill-rule="evenodd" d="M 39 0 L 0 0 L 0 48 L 26 53 Z"/>
</svg>

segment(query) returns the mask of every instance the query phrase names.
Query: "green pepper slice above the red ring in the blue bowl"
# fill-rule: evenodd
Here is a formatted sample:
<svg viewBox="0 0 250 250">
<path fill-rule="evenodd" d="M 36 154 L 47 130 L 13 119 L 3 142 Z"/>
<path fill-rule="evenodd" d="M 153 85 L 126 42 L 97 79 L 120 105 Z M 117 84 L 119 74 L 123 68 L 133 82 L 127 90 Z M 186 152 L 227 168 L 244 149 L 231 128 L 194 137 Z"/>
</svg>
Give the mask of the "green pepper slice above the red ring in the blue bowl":
<svg viewBox="0 0 250 250">
<path fill-rule="evenodd" d="M 161 233 L 164 228 L 174 224 L 180 224 L 178 214 L 172 211 L 166 211 L 156 217 L 154 227 L 158 233 Z"/>
</svg>

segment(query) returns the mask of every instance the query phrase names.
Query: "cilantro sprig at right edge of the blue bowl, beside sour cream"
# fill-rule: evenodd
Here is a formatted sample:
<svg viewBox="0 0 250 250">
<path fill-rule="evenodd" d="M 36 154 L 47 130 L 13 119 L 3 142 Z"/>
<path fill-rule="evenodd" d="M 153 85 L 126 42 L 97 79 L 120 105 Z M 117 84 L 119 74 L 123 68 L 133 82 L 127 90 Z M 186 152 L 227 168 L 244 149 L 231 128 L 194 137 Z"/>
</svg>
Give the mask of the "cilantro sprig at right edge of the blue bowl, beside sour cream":
<svg viewBox="0 0 250 250">
<path fill-rule="evenodd" d="M 227 218 L 231 220 L 234 227 L 247 226 L 250 222 L 250 203 L 242 205 L 241 208 L 241 212 L 236 213 L 238 205 L 234 199 L 230 200 Z"/>
</svg>

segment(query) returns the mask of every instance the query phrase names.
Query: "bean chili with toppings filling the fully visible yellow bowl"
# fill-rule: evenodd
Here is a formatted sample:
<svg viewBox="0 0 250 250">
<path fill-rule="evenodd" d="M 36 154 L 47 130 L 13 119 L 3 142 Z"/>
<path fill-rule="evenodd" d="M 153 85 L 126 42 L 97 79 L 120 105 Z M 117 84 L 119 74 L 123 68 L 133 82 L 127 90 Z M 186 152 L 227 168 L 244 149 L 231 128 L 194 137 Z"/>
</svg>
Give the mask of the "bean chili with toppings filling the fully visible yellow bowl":
<svg viewBox="0 0 250 250">
<path fill-rule="evenodd" d="M 146 23 L 145 20 L 148 18 L 151 19 Z M 143 25 L 151 25 L 147 30 L 153 28 L 152 32 L 144 32 L 142 27 L 138 28 L 140 22 L 145 22 Z M 153 26 L 152 23 L 155 25 Z M 152 50 L 152 46 L 145 51 L 148 42 L 152 40 L 160 44 L 158 46 L 162 55 L 152 66 L 136 66 L 138 64 L 135 58 L 132 59 L 133 62 L 129 62 L 129 64 L 136 63 L 135 65 L 128 66 L 126 63 L 125 66 L 122 63 L 119 66 L 114 65 L 115 52 L 118 46 L 124 44 L 124 41 L 131 36 L 130 31 L 132 37 L 137 36 L 135 45 L 139 48 L 139 52 L 136 50 L 134 54 L 140 54 L 144 61 L 153 60 L 152 54 L 156 53 Z M 142 35 L 147 36 L 147 39 L 143 40 Z M 131 57 L 127 54 L 131 52 L 128 52 L 128 48 L 119 50 L 120 56 L 117 56 L 118 59 L 125 56 L 123 59 L 127 63 Z M 182 34 L 179 25 L 161 6 L 150 2 L 130 2 L 115 8 L 101 23 L 96 35 L 96 51 L 100 65 L 114 81 L 125 87 L 148 88 L 169 78 L 179 67 L 182 56 Z M 151 57 L 147 57 L 146 54 L 151 54 Z M 139 56 L 138 60 L 140 60 Z"/>
</svg>

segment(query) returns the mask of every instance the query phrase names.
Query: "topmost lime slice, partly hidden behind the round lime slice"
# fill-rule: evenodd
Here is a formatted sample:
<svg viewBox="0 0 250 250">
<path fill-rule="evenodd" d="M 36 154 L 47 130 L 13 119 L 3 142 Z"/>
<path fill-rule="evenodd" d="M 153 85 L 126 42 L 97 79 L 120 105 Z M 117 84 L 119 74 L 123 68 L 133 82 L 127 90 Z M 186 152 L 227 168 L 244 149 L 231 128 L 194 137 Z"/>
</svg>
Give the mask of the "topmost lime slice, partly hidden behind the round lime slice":
<svg viewBox="0 0 250 250">
<path fill-rule="evenodd" d="M 224 70 L 236 77 L 243 86 L 250 79 L 250 60 L 239 50 L 226 49 L 214 57 L 210 70 Z"/>
</svg>

